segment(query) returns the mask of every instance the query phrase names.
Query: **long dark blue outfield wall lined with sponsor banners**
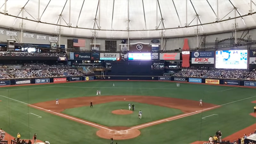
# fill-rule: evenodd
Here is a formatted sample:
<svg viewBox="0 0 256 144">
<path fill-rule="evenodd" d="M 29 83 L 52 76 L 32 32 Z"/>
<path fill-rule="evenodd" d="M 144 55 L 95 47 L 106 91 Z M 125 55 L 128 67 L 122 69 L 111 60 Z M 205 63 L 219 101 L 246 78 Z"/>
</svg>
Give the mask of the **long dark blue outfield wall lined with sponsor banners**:
<svg viewBox="0 0 256 144">
<path fill-rule="evenodd" d="M 256 82 L 249 81 L 249 80 L 179 77 L 179 76 L 65 76 L 65 77 L 5 79 L 5 80 L 0 80 L 0 86 L 7 86 L 7 85 L 18 86 L 22 84 L 65 83 L 65 82 L 92 81 L 92 80 L 175 81 L 175 82 L 256 87 Z"/>
</svg>

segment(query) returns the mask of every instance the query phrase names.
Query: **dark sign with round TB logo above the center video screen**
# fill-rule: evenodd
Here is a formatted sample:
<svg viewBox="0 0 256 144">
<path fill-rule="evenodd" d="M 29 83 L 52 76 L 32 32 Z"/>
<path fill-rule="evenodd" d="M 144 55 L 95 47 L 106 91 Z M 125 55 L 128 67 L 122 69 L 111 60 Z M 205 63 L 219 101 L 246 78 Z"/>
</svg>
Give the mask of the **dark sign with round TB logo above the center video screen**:
<svg viewBox="0 0 256 144">
<path fill-rule="evenodd" d="M 131 43 L 130 44 L 130 52 L 151 52 L 152 48 L 149 43 Z"/>
</svg>

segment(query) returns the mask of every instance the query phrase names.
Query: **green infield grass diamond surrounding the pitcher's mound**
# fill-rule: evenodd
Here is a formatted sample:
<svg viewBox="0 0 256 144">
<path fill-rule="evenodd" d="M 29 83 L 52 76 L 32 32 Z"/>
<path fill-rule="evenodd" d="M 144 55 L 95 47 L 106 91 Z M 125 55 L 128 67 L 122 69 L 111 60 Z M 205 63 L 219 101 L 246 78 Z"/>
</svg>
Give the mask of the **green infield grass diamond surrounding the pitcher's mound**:
<svg viewBox="0 0 256 144">
<path fill-rule="evenodd" d="M 129 115 L 116 115 L 111 111 L 116 109 L 128 109 L 128 104 L 133 103 L 135 110 Z M 142 111 L 142 118 L 138 118 L 139 111 Z M 80 108 L 69 108 L 62 113 L 75 116 L 81 119 L 85 119 L 97 124 L 105 126 L 135 126 L 144 124 L 159 119 L 167 118 L 170 116 L 176 116 L 182 114 L 182 111 L 174 108 L 160 107 L 155 105 L 149 105 L 144 103 L 137 103 L 132 101 L 116 101 L 109 103 L 102 103 Z"/>
</svg>

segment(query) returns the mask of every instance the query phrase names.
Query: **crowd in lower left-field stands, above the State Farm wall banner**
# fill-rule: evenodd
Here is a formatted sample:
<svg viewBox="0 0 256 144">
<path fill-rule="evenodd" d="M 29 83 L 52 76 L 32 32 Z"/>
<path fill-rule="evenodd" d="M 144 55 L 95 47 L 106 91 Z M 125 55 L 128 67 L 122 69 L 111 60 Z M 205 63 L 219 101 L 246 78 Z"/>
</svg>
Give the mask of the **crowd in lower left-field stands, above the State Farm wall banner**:
<svg viewBox="0 0 256 144">
<path fill-rule="evenodd" d="M 83 76 L 77 69 L 71 68 L 43 68 L 43 69 L 0 69 L 0 79 L 57 77 L 57 76 Z"/>
</svg>

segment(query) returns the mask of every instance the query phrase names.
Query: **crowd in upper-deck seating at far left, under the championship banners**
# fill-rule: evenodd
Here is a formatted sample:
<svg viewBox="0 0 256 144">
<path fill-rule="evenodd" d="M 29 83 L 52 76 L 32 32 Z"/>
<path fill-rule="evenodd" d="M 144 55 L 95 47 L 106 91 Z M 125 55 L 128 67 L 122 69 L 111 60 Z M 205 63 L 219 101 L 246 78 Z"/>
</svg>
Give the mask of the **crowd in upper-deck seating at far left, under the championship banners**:
<svg viewBox="0 0 256 144">
<path fill-rule="evenodd" d="M 66 53 L 61 52 L 0 52 L 0 56 L 26 56 L 26 57 L 67 57 Z"/>
</svg>

